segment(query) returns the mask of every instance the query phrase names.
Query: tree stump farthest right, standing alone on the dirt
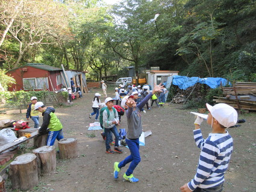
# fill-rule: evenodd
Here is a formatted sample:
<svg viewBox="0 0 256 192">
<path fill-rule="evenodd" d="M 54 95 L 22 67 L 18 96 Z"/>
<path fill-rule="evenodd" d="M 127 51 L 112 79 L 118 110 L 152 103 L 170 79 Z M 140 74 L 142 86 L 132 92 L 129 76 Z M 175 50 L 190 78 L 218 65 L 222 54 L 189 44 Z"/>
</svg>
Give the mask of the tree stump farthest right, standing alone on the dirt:
<svg viewBox="0 0 256 192">
<path fill-rule="evenodd" d="M 78 147 L 76 138 L 63 138 L 58 141 L 61 159 L 75 158 L 78 156 Z"/>
</svg>

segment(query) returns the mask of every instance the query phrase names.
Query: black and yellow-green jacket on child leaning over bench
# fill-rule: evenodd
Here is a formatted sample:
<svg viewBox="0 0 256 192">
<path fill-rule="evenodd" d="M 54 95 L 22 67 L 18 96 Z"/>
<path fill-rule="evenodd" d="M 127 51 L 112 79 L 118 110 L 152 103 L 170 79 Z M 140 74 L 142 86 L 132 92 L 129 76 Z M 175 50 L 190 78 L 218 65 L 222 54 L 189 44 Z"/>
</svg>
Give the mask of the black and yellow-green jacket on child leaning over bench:
<svg viewBox="0 0 256 192">
<path fill-rule="evenodd" d="M 50 131 L 60 131 L 60 129 L 63 128 L 60 120 L 58 120 L 58 117 L 54 114 L 54 112 L 54 108 L 51 107 L 48 107 L 45 111 L 43 111 L 43 124 L 39 129 L 40 133 L 45 133 L 47 128 L 49 128 Z"/>
</svg>

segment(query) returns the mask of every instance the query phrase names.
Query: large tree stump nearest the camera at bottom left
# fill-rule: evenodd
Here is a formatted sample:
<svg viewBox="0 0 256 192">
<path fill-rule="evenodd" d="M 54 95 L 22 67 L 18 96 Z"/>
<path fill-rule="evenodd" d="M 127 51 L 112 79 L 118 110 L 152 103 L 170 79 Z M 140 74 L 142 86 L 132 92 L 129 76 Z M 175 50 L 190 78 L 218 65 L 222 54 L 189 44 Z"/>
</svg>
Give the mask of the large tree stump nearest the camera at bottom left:
<svg viewBox="0 0 256 192">
<path fill-rule="evenodd" d="M 39 184 L 37 175 L 37 156 L 33 153 L 25 153 L 17 156 L 10 163 L 9 175 L 11 187 L 21 190 L 29 190 Z"/>
</svg>

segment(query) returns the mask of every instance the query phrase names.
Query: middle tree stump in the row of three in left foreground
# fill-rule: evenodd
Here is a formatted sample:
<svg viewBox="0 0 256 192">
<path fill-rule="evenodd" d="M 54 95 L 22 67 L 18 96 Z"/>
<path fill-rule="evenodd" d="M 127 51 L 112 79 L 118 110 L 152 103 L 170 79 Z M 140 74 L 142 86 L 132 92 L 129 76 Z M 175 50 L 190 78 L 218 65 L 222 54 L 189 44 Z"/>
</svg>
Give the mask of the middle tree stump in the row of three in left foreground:
<svg viewBox="0 0 256 192">
<path fill-rule="evenodd" d="M 37 156 L 37 172 L 39 175 L 47 176 L 56 170 L 55 146 L 42 146 L 33 150 Z"/>
</svg>

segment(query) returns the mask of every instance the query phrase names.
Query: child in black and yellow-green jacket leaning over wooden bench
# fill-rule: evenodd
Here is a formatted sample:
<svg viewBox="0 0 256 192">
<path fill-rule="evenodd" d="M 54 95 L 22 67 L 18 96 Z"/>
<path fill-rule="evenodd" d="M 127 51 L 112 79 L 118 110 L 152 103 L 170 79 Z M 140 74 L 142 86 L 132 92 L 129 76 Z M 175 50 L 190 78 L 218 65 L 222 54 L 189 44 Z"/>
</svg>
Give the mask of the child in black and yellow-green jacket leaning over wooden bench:
<svg viewBox="0 0 256 192">
<path fill-rule="evenodd" d="M 43 105 L 43 102 L 39 101 L 36 103 L 34 110 L 39 111 L 43 115 L 43 124 L 39 129 L 39 133 L 44 134 L 47 132 L 47 128 L 49 128 L 46 140 L 47 146 L 53 146 L 56 138 L 58 141 L 64 138 L 62 132 L 63 126 L 61 125 L 60 120 L 58 120 L 58 117 L 54 114 L 54 108 L 46 108 L 45 105 Z"/>
</svg>

